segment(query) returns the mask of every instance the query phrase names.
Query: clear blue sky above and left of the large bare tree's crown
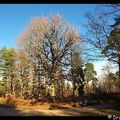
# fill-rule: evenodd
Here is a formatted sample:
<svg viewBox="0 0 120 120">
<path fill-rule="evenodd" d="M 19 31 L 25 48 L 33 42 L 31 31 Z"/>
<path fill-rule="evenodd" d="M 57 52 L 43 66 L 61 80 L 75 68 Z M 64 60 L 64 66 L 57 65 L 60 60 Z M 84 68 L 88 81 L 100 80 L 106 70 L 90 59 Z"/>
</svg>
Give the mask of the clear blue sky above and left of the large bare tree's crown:
<svg viewBox="0 0 120 120">
<path fill-rule="evenodd" d="M 96 4 L 0 4 L 0 48 L 15 47 L 15 40 L 31 18 L 59 12 L 63 18 L 85 32 L 84 13 L 94 10 Z"/>
</svg>

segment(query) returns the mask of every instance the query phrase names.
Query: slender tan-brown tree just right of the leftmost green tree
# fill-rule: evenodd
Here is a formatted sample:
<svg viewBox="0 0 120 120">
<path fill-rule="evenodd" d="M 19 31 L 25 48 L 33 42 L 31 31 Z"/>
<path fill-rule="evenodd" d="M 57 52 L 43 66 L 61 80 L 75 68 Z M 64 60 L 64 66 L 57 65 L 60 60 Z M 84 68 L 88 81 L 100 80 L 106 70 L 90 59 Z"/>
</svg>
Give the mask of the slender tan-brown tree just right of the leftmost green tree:
<svg viewBox="0 0 120 120">
<path fill-rule="evenodd" d="M 21 98 L 26 98 L 29 92 L 29 82 L 31 77 L 29 76 L 30 62 L 26 57 L 24 51 L 18 49 L 16 50 L 15 54 L 16 54 L 15 71 L 16 71 L 16 79 L 17 79 L 16 96 L 20 96 Z"/>
</svg>

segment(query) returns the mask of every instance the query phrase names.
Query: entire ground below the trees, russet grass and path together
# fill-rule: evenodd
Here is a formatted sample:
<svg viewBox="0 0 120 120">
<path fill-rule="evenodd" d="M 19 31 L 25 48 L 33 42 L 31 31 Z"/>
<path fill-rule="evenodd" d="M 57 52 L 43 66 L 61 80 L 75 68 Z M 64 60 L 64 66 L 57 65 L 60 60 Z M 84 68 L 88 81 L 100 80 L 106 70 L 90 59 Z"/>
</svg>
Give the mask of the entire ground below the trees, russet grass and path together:
<svg viewBox="0 0 120 120">
<path fill-rule="evenodd" d="M 87 106 L 81 107 L 79 102 L 53 104 L 0 97 L 0 116 L 120 116 L 120 102 L 115 102 L 115 98 L 109 102 L 96 101 L 92 98 Z"/>
</svg>

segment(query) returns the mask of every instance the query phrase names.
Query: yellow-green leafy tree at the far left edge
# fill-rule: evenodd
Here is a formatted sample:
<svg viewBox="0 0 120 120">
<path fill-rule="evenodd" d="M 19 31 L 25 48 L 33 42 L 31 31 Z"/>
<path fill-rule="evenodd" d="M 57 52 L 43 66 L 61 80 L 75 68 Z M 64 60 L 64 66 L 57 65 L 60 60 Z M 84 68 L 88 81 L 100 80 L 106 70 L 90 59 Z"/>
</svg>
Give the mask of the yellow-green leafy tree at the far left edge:
<svg viewBox="0 0 120 120">
<path fill-rule="evenodd" d="M 13 79 L 15 78 L 14 48 L 6 47 L 0 50 L 0 76 L 5 81 L 6 90 L 13 92 Z"/>
</svg>

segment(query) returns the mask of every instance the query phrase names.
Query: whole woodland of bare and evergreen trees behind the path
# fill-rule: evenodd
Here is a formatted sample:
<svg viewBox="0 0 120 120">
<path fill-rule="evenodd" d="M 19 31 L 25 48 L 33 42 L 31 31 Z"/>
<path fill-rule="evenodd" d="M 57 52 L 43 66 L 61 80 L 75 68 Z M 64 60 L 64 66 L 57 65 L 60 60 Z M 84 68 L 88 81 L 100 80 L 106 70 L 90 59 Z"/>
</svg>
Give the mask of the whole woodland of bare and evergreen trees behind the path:
<svg viewBox="0 0 120 120">
<path fill-rule="evenodd" d="M 0 106 L 17 106 L 19 100 L 52 107 L 60 103 L 83 108 L 119 104 L 120 5 L 105 7 L 109 11 L 85 14 L 86 35 L 61 14 L 48 14 L 34 17 L 25 26 L 15 41 L 16 48 L 1 48 Z M 104 58 L 115 64 L 117 71 L 111 72 L 111 64 L 107 64 L 97 77 L 93 61 Z M 120 110 L 120 104 L 117 107 Z"/>
</svg>

